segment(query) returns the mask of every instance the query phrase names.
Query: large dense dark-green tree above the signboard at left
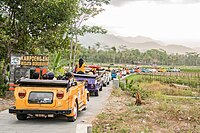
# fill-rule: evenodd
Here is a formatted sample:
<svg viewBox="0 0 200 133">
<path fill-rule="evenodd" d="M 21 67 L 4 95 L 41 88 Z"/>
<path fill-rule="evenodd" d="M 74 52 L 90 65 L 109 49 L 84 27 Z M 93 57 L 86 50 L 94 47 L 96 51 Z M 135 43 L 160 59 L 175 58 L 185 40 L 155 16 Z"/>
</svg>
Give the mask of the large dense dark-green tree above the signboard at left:
<svg viewBox="0 0 200 133">
<path fill-rule="evenodd" d="M 72 23 L 71 18 L 76 9 L 77 0 L 1 0 L 0 50 L 4 60 L 3 75 L 11 53 L 66 48 L 68 44 L 63 42 L 62 37 L 66 29 L 69 30 L 68 25 Z M 66 40 L 69 40 L 68 37 Z"/>
</svg>

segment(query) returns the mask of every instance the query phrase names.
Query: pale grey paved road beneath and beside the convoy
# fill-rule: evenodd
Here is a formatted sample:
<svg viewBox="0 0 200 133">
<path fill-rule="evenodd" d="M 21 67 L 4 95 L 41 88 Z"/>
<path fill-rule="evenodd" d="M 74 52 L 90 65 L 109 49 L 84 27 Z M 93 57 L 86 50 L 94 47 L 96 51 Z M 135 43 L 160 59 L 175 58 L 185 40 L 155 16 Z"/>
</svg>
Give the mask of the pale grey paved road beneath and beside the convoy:
<svg viewBox="0 0 200 133">
<path fill-rule="evenodd" d="M 77 124 L 90 124 L 103 110 L 110 96 L 112 81 L 103 87 L 98 97 L 91 96 L 86 111 L 79 112 L 76 122 L 67 122 L 65 117 L 30 118 L 18 121 L 8 110 L 0 112 L 0 133 L 75 133 Z"/>
</svg>

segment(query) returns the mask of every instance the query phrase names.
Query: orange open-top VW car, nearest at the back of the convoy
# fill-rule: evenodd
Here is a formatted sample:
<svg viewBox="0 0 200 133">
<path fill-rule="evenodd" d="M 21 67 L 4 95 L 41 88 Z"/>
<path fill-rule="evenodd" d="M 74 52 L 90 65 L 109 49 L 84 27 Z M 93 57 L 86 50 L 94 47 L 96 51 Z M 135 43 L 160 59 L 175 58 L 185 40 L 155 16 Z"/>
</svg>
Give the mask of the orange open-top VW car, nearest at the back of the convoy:
<svg viewBox="0 0 200 133">
<path fill-rule="evenodd" d="M 9 109 L 18 120 L 65 115 L 68 121 L 74 122 L 78 111 L 87 108 L 89 92 L 84 82 L 24 79 L 18 83 L 14 92 L 15 106 Z"/>
</svg>

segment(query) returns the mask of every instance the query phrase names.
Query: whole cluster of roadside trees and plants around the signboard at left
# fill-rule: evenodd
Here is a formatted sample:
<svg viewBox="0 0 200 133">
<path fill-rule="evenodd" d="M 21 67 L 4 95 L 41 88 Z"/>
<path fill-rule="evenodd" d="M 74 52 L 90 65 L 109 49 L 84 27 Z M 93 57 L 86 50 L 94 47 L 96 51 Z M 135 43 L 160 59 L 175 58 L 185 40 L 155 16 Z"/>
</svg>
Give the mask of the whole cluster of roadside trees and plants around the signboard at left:
<svg viewBox="0 0 200 133">
<path fill-rule="evenodd" d="M 48 55 L 49 70 L 75 66 L 86 33 L 105 34 L 85 21 L 104 11 L 110 0 L 0 1 L 0 97 L 8 90 L 11 55 Z M 62 73 L 63 74 L 63 73 Z"/>
</svg>

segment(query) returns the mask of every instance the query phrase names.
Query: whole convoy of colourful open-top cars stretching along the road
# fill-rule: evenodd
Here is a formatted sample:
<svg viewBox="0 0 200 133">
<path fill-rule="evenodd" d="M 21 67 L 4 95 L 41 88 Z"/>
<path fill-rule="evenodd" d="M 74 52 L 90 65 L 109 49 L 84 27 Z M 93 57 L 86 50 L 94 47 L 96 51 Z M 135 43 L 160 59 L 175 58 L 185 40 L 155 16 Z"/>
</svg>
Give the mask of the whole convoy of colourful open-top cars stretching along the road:
<svg viewBox="0 0 200 133">
<path fill-rule="evenodd" d="M 130 73 L 157 72 L 180 72 L 180 69 L 141 67 L 100 69 L 99 66 L 91 66 L 85 74 L 73 74 L 73 80 L 21 79 L 15 86 L 15 106 L 9 109 L 9 113 L 16 114 L 18 120 L 64 115 L 69 121 L 74 122 L 78 112 L 87 109 L 89 96 L 92 94 L 99 96 L 99 92 L 109 85 L 112 79 Z"/>
</svg>

